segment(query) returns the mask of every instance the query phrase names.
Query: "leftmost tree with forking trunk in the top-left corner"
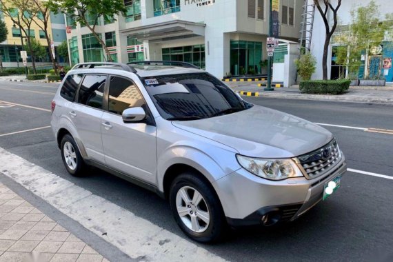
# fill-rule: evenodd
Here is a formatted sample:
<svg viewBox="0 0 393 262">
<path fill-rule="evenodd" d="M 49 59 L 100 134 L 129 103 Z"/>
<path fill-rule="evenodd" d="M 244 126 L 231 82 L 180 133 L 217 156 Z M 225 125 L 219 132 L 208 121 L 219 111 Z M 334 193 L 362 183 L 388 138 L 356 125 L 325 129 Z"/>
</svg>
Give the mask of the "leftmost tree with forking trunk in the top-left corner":
<svg viewBox="0 0 393 262">
<path fill-rule="evenodd" d="M 21 28 L 25 34 L 28 42 L 28 50 L 32 58 L 32 68 L 34 74 L 37 74 L 35 67 L 34 50 L 32 50 L 31 39 L 34 38 L 30 35 L 31 27 L 34 17 L 37 17 L 37 8 L 31 0 L 0 0 L 0 8 L 4 15 L 9 17 L 11 21 Z M 21 43 L 23 46 L 23 43 Z"/>
</svg>

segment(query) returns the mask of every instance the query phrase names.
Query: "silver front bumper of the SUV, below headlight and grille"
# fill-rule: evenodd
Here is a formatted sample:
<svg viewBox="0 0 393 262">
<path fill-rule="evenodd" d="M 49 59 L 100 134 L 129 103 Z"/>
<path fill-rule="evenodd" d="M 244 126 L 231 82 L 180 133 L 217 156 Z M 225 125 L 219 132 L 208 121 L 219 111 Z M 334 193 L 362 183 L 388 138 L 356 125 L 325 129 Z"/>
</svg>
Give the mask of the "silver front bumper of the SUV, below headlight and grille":
<svg viewBox="0 0 393 262">
<path fill-rule="evenodd" d="M 230 225 L 272 225 L 292 221 L 319 203 L 326 182 L 347 170 L 345 157 L 328 174 L 269 181 L 245 169 L 213 183 Z"/>
</svg>

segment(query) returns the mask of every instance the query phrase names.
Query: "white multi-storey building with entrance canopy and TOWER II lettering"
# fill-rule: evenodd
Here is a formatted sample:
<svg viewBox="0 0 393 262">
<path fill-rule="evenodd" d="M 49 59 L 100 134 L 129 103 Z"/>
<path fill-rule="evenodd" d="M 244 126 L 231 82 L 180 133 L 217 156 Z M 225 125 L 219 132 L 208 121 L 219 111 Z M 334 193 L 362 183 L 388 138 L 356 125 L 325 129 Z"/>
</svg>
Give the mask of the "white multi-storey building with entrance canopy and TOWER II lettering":
<svg viewBox="0 0 393 262">
<path fill-rule="evenodd" d="M 125 17 L 101 19 L 97 26 L 115 61 L 185 61 L 216 77 L 263 73 L 269 0 L 125 0 L 124 4 Z M 280 0 L 281 39 L 298 41 L 303 4 L 304 0 Z M 90 30 L 67 21 L 70 62 L 105 61 Z"/>
</svg>

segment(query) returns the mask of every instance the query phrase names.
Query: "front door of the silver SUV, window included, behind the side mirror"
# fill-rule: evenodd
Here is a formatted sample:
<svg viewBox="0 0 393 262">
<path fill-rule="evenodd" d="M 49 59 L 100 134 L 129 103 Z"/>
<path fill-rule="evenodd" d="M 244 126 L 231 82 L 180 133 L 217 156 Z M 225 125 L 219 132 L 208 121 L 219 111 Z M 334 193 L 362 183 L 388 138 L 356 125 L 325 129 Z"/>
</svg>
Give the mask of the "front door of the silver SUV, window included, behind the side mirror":
<svg viewBox="0 0 393 262">
<path fill-rule="evenodd" d="M 131 177 L 154 184 L 157 128 L 137 85 L 128 78 L 110 76 L 105 99 L 108 99 L 108 111 L 101 118 L 105 163 Z M 123 110 L 134 107 L 142 107 L 150 121 L 124 123 Z"/>
</svg>

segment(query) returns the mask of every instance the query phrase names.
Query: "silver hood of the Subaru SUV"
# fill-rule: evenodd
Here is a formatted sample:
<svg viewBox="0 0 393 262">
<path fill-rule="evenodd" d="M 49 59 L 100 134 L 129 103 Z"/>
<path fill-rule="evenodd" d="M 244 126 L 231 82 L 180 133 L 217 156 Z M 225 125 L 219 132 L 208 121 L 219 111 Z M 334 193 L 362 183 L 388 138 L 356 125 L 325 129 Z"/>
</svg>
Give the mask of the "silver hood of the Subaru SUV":
<svg viewBox="0 0 393 262">
<path fill-rule="evenodd" d="M 250 157 L 296 157 L 333 139 L 332 133 L 319 125 L 259 105 L 220 117 L 172 124 Z"/>
</svg>

